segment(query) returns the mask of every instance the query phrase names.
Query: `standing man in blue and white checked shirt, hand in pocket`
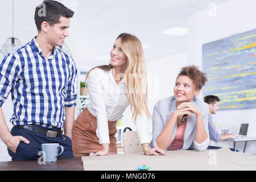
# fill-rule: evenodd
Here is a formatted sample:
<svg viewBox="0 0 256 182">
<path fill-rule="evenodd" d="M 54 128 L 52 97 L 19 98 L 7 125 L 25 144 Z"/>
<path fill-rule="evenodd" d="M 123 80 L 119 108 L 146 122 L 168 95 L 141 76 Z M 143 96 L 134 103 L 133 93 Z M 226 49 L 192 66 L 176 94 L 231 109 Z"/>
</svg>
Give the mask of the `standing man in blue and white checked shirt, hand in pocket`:
<svg viewBox="0 0 256 182">
<path fill-rule="evenodd" d="M 35 9 L 38 36 L 0 62 L 0 137 L 12 160 L 38 159 L 42 143 L 59 143 L 59 158 L 73 157 L 77 69 L 60 51 L 74 12 L 57 1 Z M 11 93 L 14 113 L 7 128 L 2 105 Z M 64 129 L 64 134 L 62 134 Z"/>
</svg>

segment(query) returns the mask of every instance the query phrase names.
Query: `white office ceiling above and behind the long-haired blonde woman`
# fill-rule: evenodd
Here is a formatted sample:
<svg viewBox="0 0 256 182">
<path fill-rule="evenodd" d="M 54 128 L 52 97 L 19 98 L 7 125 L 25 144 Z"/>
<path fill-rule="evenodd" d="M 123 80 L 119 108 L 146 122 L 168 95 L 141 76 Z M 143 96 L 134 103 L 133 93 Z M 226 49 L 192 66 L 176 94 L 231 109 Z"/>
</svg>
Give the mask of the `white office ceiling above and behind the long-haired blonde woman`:
<svg viewBox="0 0 256 182">
<path fill-rule="evenodd" d="M 226 0 L 77 0 L 77 33 L 79 44 L 83 45 L 79 50 L 84 52 L 83 60 L 106 64 L 117 36 L 129 32 L 147 46 L 146 61 L 186 51 L 187 35 L 161 32 L 172 27 L 186 28 L 189 14 L 223 1 Z"/>
</svg>

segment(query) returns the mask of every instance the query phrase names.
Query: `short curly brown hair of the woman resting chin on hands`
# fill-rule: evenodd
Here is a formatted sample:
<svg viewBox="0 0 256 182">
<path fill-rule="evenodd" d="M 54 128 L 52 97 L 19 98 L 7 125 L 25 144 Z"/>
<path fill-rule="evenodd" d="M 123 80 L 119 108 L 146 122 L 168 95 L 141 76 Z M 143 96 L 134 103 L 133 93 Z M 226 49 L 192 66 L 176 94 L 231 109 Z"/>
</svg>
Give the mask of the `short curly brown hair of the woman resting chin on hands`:
<svg viewBox="0 0 256 182">
<path fill-rule="evenodd" d="M 187 67 L 181 68 L 179 76 L 188 76 L 196 85 L 196 89 L 201 90 L 201 88 L 205 85 L 207 80 L 207 75 L 204 72 L 201 72 L 196 65 L 189 65 Z"/>
</svg>

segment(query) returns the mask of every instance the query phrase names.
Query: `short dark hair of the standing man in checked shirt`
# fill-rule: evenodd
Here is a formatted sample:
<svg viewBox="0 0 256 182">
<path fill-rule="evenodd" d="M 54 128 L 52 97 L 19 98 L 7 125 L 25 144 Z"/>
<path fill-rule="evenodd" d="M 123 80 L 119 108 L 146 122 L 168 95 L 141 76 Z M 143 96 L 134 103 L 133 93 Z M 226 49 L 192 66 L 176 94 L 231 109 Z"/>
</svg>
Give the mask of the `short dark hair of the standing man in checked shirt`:
<svg viewBox="0 0 256 182">
<path fill-rule="evenodd" d="M 45 8 L 45 14 L 39 12 L 39 10 L 42 10 L 42 8 Z M 60 2 L 44 0 L 42 4 L 36 6 L 35 9 L 34 19 L 36 28 L 38 28 L 38 31 L 40 32 L 43 22 L 47 22 L 50 26 L 53 26 L 55 23 L 60 23 L 60 16 L 64 16 L 65 18 L 72 18 L 73 15 L 74 11 L 68 9 Z"/>
</svg>

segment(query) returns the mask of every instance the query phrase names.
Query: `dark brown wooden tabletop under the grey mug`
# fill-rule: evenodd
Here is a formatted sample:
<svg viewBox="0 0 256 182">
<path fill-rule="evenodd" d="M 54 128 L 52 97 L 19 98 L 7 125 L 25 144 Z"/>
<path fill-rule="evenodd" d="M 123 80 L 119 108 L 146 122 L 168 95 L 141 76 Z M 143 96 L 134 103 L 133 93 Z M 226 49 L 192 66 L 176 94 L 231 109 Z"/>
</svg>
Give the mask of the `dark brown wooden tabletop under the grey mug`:
<svg viewBox="0 0 256 182">
<path fill-rule="evenodd" d="M 81 158 L 57 159 L 57 162 L 39 164 L 38 160 L 0 162 L 0 171 L 84 171 Z"/>
</svg>

